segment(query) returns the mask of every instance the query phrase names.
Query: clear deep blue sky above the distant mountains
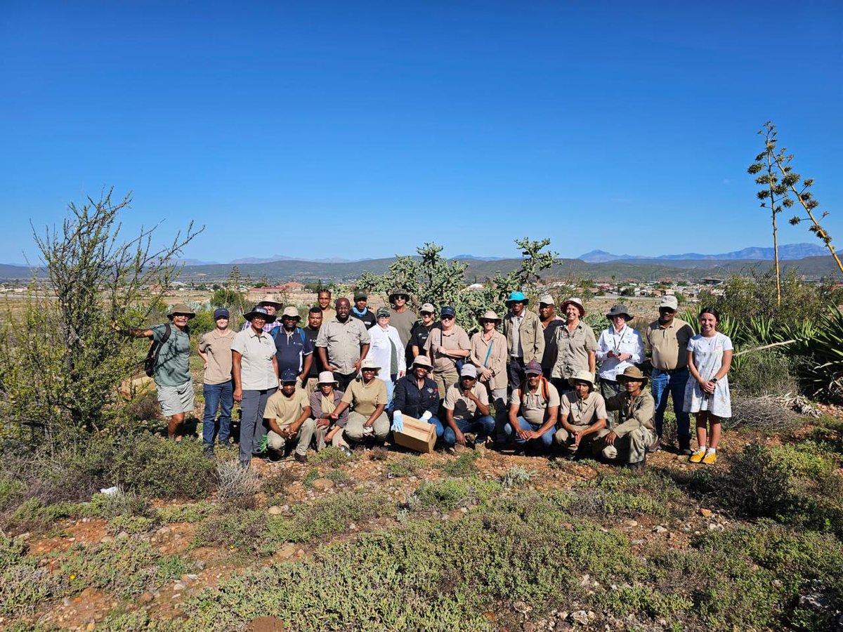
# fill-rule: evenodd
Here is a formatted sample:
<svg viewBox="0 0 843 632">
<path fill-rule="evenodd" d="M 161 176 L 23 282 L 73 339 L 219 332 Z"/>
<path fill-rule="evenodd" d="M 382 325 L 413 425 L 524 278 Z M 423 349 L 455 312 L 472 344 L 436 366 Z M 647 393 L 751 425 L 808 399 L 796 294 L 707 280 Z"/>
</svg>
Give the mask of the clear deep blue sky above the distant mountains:
<svg viewBox="0 0 843 632">
<path fill-rule="evenodd" d="M 768 119 L 841 247 L 841 34 L 836 0 L 5 0 L 0 261 L 111 185 L 200 260 L 767 246 Z"/>
</svg>

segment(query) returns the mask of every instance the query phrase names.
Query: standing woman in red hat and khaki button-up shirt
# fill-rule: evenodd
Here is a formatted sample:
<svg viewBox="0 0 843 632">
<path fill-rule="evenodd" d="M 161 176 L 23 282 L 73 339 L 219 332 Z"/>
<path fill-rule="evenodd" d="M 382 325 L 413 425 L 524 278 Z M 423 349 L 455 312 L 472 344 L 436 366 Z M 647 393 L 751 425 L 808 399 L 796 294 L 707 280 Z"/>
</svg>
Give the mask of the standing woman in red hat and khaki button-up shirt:
<svg viewBox="0 0 843 632">
<path fill-rule="evenodd" d="M 571 390 L 568 379 L 577 371 L 597 369 L 597 340 L 594 330 L 583 323 L 585 308 L 579 298 L 569 298 L 561 304 L 565 324 L 556 329 L 556 362 L 550 372 L 551 381 L 561 392 Z"/>
</svg>

